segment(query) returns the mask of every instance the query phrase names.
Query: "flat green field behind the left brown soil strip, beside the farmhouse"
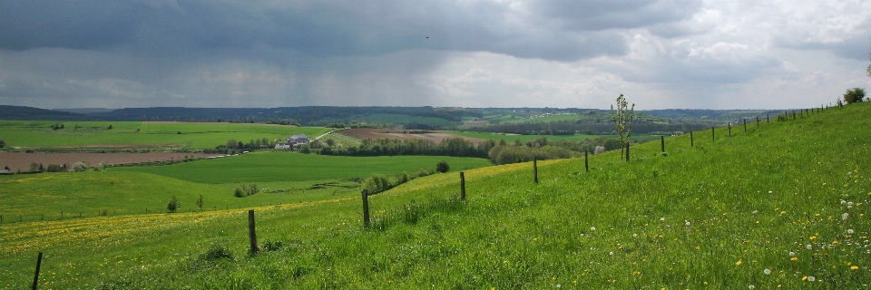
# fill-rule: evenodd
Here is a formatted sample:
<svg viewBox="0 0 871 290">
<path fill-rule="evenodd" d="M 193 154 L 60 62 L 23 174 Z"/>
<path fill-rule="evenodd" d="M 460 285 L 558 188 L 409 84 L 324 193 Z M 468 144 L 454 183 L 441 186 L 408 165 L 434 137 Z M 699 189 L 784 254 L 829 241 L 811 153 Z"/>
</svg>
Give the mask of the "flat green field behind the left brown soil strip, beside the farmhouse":
<svg viewBox="0 0 871 290">
<path fill-rule="evenodd" d="M 54 124 L 64 129 L 54 130 Z M 109 126 L 112 129 L 109 129 Z M 132 121 L 0 121 L 6 146 L 18 149 L 210 149 L 227 140 L 278 140 L 293 134 L 318 136 L 320 127 L 267 124 L 132 122 Z"/>
</svg>

